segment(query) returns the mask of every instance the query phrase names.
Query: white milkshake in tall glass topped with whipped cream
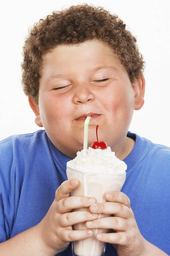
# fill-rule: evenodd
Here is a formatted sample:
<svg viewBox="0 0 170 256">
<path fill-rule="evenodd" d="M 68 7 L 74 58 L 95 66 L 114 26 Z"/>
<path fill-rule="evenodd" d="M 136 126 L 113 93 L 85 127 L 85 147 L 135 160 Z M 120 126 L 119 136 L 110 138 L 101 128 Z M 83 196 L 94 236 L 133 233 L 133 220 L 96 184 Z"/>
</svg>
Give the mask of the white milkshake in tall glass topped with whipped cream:
<svg viewBox="0 0 170 256">
<path fill-rule="evenodd" d="M 120 191 L 126 178 L 127 165 L 119 160 L 111 148 L 83 149 L 77 152 L 77 157 L 67 163 L 68 179 L 77 178 L 80 182 L 72 196 L 93 196 L 97 203 L 105 202 L 104 194 L 108 191 Z M 87 211 L 88 208 L 77 209 Z M 108 215 L 100 214 L 99 218 Z M 87 229 L 85 223 L 73 226 L 74 230 Z M 108 233 L 109 230 L 93 230 L 93 236 L 88 239 L 74 241 L 74 253 L 77 256 L 102 256 L 105 243 L 96 239 L 97 233 Z"/>
</svg>

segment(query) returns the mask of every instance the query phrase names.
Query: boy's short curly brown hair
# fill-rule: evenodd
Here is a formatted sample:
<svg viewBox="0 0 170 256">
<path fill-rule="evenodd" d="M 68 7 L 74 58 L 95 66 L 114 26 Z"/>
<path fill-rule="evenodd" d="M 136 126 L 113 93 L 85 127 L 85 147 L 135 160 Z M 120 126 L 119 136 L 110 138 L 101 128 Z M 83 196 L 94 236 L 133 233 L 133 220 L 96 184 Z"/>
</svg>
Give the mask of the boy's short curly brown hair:
<svg viewBox="0 0 170 256">
<path fill-rule="evenodd" d="M 38 104 L 43 55 L 59 44 L 78 44 L 97 39 L 108 44 L 127 70 L 131 83 L 142 75 L 144 61 L 136 38 L 117 15 L 88 4 L 52 12 L 30 29 L 23 46 L 24 93 Z"/>
</svg>

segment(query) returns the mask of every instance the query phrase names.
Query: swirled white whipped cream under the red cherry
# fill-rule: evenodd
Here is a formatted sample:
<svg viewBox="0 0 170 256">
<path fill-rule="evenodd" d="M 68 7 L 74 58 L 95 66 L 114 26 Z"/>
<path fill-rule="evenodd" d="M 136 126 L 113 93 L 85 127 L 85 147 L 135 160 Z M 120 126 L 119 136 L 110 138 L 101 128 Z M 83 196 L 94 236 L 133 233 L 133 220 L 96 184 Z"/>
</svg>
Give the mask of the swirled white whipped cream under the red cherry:
<svg viewBox="0 0 170 256">
<path fill-rule="evenodd" d="M 79 172 L 95 174 L 123 174 L 127 165 L 119 160 L 111 148 L 88 148 L 77 152 L 77 157 L 67 162 L 67 167 Z"/>
</svg>

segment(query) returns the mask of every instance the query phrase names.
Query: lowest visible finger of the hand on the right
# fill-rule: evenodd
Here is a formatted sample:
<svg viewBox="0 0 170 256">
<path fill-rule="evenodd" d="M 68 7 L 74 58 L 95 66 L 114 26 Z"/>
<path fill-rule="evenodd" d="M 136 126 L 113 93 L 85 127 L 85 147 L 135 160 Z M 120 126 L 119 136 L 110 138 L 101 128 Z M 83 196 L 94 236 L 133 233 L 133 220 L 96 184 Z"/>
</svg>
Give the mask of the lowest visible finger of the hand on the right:
<svg viewBox="0 0 170 256">
<path fill-rule="evenodd" d="M 122 246 L 128 246 L 131 240 L 130 233 L 128 232 L 101 233 L 96 235 L 96 239 L 110 244 L 120 244 Z"/>
</svg>

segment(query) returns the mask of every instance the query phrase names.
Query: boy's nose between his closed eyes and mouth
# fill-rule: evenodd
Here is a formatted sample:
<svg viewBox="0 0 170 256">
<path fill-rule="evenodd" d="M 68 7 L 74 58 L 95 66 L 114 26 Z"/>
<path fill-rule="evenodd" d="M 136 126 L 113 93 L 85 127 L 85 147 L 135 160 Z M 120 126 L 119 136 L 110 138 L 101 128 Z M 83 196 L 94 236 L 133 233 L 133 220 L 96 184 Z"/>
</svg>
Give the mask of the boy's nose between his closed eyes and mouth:
<svg viewBox="0 0 170 256">
<path fill-rule="evenodd" d="M 92 91 L 91 84 L 80 83 L 74 87 L 73 102 L 75 104 L 82 104 L 92 102 L 95 99 L 94 92 Z"/>
</svg>

